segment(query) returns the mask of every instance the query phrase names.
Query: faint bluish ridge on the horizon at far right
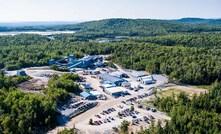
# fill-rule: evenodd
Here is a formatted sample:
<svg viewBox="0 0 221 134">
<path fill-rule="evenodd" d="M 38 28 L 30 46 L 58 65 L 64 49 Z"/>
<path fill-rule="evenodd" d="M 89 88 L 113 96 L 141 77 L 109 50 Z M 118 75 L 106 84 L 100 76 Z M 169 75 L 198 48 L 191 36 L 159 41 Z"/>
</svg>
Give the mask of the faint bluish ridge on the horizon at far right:
<svg viewBox="0 0 221 134">
<path fill-rule="evenodd" d="M 221 25 L 221 19 L 182 18 L 182 19 L 173 20 L 173 21 L 180 22 L 180 23 L 186 23 L 186 24 Z"/>
</svg>

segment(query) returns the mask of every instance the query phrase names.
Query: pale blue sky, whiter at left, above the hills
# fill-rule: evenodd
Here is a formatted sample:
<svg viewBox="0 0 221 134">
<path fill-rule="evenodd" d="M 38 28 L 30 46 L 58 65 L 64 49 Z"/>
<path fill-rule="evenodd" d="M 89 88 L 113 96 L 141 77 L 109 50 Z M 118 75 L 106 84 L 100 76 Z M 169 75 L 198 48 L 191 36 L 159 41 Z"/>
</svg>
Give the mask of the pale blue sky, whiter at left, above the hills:
<svg viewBox="0 0 221 134">
<path fill-rule="evenodd" d="M 221 18 L 221 0 L 0 0 L 0 22 Z"/>
</svg>

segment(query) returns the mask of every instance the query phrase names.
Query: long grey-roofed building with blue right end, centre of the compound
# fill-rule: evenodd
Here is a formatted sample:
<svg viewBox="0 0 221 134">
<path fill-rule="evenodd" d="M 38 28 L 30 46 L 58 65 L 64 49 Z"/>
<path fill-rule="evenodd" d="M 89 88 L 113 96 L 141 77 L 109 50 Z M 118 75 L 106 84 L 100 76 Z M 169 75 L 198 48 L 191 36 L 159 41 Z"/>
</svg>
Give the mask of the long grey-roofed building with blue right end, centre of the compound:
<svg viewBox="0 0 221 134">
<path fill-rule="evenodd" d="M 98 74 L 97 76 L 103 81 L 107 81 L 111 84 L 115 84 L 116 86 L 121 86 L 121 84 L 126 81 L 124 79 L 117 78 L 109 74 Z"/>
</svg>

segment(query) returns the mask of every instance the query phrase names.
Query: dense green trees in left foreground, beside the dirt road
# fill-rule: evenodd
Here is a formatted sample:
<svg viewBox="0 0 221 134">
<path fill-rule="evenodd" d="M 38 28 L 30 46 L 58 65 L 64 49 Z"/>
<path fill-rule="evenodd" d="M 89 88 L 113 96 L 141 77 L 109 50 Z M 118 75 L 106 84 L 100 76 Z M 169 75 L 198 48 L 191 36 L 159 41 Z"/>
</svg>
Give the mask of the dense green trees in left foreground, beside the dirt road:
<svg viewBox="0 0 221 134">
<path fill-rule="evenodd" d="M 57 125 L 57 105 L 67 100 L 69 92 L 77 93 L 77 75 L 54 75 L 50 86 L 43 89 L 45 95 L 25 93 L 16 85 L 28 80 L 27 76 L 3 77 L 0 75 L 0 133 L 45 133 Z M 64 81 L 68 86 L 55 83 Z M 56 86 L 55 86 L 56 85 Z M 72 90 L 70 90 L 72 88 Z"/>
</svg>

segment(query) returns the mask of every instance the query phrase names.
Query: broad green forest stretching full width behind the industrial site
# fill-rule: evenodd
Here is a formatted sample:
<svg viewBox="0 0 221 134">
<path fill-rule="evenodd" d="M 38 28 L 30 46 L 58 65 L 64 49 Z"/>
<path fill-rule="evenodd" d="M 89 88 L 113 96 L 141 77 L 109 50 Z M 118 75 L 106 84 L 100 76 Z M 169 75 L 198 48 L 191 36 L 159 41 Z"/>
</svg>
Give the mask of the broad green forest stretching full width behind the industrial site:
<svg viewBox="0 0 221 134">
<path fill-rule="evenodd" d="M 17 35 L 0 37 L 0 46 L 0 68 L 6 70 L 48 65 L 49 59 L 70 54 L 76 58 L 112 54 L 111 62 L 166 74 L 172 82 L 202 85 L 221 79 L 220 33 L 181 33 L 103 44 Z"/>
</svg>

